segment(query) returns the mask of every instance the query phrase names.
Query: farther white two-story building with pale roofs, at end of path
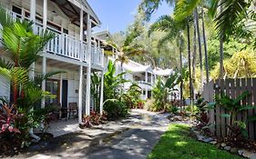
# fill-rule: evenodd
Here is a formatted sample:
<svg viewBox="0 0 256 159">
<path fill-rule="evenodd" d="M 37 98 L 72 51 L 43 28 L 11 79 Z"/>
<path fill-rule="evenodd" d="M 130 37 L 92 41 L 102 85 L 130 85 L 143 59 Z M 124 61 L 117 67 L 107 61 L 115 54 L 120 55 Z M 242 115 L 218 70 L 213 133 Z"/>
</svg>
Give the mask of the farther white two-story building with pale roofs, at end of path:
<svg viewBox="0 0 256 159">
<path fill-rule="evenodd" d="M 120 74 L 123 72 L 127 72 L 124 75 L 125 79 L 131 81 L 131 83 L 135 82 L 141 88 L 141 99 L 146 100 L 152 97 L 152 89 L 154 84 L 157 82 L 157 78 L 168 77 L 169 75 L 174 74 L 172 69 L 161 69 L 161 68 L 153 68 L 151 65 L 141 65 L 135 61 L 129 60 L 128 63 L 125 63 L 121 66 L 120 62 L 116 61 L 118 57 L 118 49 L 113 47 L 112 45 L 108 45 L 108 41 L 115 41 L 112 35 L 108 30 L 100 31 L 93 34 L 94 40 L 97 43 L 102 44 L 105 50 L 111 51 L 113 55 L 108 55 L 108 59 L 105 59 L 105 64 L 108 64 L 108 60 L 115 62 L 116 64 L 116 74 Z M 106 69 L 107 69 L 107 65 Z M 124 89 L 128 90 L 131 83 L 124 84 Z M 176 90 L 178 87 L 176 87 Z M 173 91 L 172 94 L 169 95 L 169 99 L 179 97 L 179 90 Z"/>
</svg>

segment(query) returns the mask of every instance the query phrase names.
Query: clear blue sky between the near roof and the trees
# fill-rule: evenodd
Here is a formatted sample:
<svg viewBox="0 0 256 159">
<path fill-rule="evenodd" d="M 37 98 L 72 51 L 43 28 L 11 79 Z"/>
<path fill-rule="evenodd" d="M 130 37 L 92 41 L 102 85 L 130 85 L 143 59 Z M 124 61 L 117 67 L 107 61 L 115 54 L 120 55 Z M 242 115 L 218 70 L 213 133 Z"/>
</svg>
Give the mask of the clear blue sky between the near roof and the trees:
<svg viewBox="0 0 256 159">
<path fill-rule="evenodd" d="M 88 0 L 89 5 L 96 12 L 102 25 L 94 31 L 108 29 L 110 33 L 126 30 L 127 26 L 134 20 L 137 7 L 141 0 Z M 171 8 L 163 4 L 159 10 L 152 15 L 151 22 L 154 22 L 159 15 L 169 15 Z"/>
</svg>

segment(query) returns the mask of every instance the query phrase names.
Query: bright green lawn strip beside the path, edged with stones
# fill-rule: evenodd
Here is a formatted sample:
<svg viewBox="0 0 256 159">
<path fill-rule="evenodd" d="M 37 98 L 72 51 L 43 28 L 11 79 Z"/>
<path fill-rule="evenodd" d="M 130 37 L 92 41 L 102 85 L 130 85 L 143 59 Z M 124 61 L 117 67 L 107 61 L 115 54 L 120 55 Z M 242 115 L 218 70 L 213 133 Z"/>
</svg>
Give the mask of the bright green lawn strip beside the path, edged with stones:
<svg viewBox="0 0 256 159">
<path fill-rule="evenodd" d="M 170 124 L 148 159 L 241 159 L 240 156 L 218 149 L 189 137 L 188 124 Z"/>
</svg>

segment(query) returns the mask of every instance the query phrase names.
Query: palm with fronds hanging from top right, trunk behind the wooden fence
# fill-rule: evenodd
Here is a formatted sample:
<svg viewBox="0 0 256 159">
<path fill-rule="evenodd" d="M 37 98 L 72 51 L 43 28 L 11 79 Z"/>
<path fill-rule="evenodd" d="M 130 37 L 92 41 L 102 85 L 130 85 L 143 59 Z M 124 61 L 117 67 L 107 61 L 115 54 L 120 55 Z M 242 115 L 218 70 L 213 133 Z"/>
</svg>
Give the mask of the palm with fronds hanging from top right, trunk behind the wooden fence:
<svg viewBox="0 0 256 159">
<path fill-rule="evenodd" d="M 176 15 L 179 16 L 179 19 L 191 15 L 193 10 L 200 4 L 206 6 L 209 10 L 209 15 L 214 17 L 213 22 L 216 24 L 216 31 L 220 37 L 220 77 L 223 76 L 223 42 L 230 35 L 233 35 L 237 27 L 236 24 L 241 17 L 246 16 L 246 11 L 252 3 L 253 1 L 251 0 L 191 0 L 189 3 L 187 1 L 179 1 L 176 5 Z M 202 12 L 202 14 L 204 13 Z M 206 46 L 206 44 L 204 45 Z"/>
</svg>

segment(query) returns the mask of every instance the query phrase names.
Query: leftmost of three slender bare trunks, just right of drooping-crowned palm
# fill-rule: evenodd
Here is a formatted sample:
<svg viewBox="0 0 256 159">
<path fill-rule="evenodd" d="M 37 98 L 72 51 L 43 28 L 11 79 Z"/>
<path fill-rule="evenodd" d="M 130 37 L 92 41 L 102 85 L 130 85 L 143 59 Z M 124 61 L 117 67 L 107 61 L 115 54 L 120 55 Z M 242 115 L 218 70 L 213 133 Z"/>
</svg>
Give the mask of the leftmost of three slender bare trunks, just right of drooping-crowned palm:
<svg viewBox="0 0 256 159">
<path fill-rule="evenodd" d="M 190 31 L 189 31 L 189 22 L 187 25 L 187 32 L 188 32 L 188 58 L 189 58 L 189 95 L 190 95 L 190 105 L 192 104 L 193 100 L 193 83 L 191 78 L 191 53 L 190 53 Z"/>
</svg>

